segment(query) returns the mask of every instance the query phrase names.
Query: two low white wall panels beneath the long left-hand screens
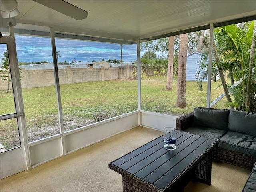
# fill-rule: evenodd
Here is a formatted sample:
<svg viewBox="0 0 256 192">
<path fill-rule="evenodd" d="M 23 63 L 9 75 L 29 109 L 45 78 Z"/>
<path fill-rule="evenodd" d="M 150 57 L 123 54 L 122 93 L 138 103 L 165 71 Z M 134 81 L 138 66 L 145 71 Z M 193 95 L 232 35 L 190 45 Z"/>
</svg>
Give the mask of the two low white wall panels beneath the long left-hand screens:
<svg viewBox="0 0 256 192">
<path fill-rule="evenodd" d="M 134 111 L 65 132 L 66 154 L 137 127 L 138 114 Z M 30 142 L 29 148 L 32 167 L 63 156 L 61 134 Z"/>
</svg>

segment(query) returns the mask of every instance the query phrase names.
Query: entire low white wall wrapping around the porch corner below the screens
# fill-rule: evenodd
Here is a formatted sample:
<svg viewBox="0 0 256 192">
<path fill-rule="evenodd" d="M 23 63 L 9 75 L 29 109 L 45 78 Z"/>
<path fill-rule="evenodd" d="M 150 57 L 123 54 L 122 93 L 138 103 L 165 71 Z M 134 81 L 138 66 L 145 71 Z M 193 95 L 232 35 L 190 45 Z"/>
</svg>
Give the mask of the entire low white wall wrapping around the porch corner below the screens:
<svg viewBox="0 0 256 192">
<path fill-rule="evenodd" d="M 162 131 L 166 126 L 176 126 L 177 116 L 147 111 L 134 111 L 95 124 L 65 132 L 66 154 L 100 142 L 139 125 Z M 139 122 L 140 119 L 140 122 Z M 21 148 L 1 153 L 1 179 L 24 170 L 12 164 L 12 158 L 22 158 Z M 29 143 L 31 167 L 59 158 L 62 154 L 61 134 Z"/>
</svg>

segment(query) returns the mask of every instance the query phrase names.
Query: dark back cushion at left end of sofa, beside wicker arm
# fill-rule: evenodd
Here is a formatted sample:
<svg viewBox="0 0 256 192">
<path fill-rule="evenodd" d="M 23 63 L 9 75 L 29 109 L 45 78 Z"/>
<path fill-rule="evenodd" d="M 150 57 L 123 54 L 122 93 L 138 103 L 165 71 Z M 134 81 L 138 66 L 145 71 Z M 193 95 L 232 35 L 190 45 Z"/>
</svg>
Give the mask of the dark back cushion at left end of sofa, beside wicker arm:
<svg viewBox="0 0 256 192">
<path fill-rule="evenodd" d="M 194 126 L 228 130 L 227 109 L 194 108 Z"/>
</svg>

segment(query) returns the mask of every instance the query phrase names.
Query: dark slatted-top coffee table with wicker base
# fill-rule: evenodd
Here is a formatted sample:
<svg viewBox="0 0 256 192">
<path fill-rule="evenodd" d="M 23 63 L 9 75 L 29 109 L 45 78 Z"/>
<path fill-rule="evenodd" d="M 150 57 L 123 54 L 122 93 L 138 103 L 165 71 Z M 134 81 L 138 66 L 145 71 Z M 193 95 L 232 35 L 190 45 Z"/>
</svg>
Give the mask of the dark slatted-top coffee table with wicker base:
<svg viewBox="0 0 256 192">
<path fill-rule="evenodd" d="M 160 136 L 108 165 L 122 174 L 124 192 L 183 191 L 190 180 L 211 184 L 218 140 L 178 131 L 176 150 L 164 149 L 163 140 Z"/>
</svg>

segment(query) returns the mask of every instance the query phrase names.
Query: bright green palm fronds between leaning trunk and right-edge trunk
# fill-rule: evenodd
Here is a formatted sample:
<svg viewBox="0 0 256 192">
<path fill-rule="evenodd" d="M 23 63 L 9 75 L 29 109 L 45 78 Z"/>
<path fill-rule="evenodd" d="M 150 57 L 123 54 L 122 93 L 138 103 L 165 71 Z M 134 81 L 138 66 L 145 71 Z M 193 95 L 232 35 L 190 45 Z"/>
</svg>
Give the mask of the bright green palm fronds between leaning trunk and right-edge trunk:
<svg viewBox="0 0 256 192">
<path fill-rule="evenodd" d="M 230 25 L 222 27 L 221 33 L 218 34 L 219 41 L 228 43 L 229 49 L 222 53 L 225 63 L 233 64 L 232 73 L 235 74 L 237 80 L 242 79 L 238 86 L 242 92 L 237 92 L 236 89 L 231 89 L 231 94 L 234 96 L 234 105 L 241 109 L 251 111 L 252 108 L 246 108 L 246 92 L 247 92 L 247 76 L 250 62 L 250 52 L 253 37 L 254 21 L 248 22 L 241 27 L 237 25 Z M 217 36 L 217 37 L 218 37 Z M 224 38 L 226 36 L 226 38 Z M 226 40 L 225 40 L 226 39 Z M 255 52 L 255 49 L 253 50 Z M 252 78 L 252 77 L 250 77 Z M 250 80 L 251 81 L 251 80 Z M 251 92 L 251 90 L 248 90 Z M 249 101 L 248 101 L 249 102 Z M 253 102 L 253 101 L 252 101 Z M 255 105 L 255 102 L 253 102 Z M 250 104 L 248 103 L 248 106 Z M 255 109 L 255 107 L 254 107 Z"/>
</svg>

